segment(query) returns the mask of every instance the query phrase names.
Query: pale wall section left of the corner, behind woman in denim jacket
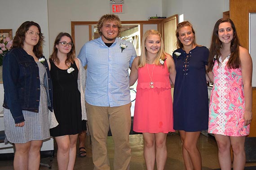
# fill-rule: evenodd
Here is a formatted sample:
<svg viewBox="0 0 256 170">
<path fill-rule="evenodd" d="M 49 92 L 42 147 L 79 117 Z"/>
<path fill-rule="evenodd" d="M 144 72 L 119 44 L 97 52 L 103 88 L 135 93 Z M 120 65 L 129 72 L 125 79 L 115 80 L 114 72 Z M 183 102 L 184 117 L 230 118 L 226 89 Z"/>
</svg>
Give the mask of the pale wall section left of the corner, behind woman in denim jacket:
<svg viewBox="0 0 256 170">
<path fill-rule="evenodd" d="M 45 37 L 44 55 L 49 56 L 47 0 L 1 0 L 0 16 L 0 29 L 13 29 L 13 36 L 23 22 L 37 22 Z M 0 111 L 3 101 L 4 88 L 0 84 Z"/>
</svg>

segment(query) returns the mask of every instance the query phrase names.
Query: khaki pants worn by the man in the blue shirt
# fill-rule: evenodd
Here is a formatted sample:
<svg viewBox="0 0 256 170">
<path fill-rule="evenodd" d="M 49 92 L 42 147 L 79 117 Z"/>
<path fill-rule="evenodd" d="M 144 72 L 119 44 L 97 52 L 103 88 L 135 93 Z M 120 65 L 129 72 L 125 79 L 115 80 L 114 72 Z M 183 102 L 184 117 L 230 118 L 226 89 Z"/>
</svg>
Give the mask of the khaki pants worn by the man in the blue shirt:
<svg viewBox="0 0 256 170">
<path fill-rule="evenodd" d="M 128 170 L 131 160 L 129 133 L 131 103 L 124 106 L 93 106 L 86 103 L 88 127 L 93 144 L 94 170 L 110 170 L 107 156 L 109 127 L 115 143 L 114 170 Z"/>
</svg>

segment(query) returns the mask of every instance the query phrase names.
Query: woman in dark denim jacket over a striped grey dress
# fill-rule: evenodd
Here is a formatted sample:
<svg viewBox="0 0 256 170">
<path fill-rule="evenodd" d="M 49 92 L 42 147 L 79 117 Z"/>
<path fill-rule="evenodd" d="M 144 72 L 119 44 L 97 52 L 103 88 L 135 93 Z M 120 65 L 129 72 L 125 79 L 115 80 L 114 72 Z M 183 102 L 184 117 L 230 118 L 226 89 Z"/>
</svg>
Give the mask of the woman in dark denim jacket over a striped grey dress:
<svg viewBox="0 0 256 170">
<path fill-rule="evenodd" d="M 40 148 L 50 137 L 53 93 L 43 42 L 40 26 L 26 21 L 3 60 L 5 141 L 15 144 L 14 169 L 38 170 Z"/>
</svg>

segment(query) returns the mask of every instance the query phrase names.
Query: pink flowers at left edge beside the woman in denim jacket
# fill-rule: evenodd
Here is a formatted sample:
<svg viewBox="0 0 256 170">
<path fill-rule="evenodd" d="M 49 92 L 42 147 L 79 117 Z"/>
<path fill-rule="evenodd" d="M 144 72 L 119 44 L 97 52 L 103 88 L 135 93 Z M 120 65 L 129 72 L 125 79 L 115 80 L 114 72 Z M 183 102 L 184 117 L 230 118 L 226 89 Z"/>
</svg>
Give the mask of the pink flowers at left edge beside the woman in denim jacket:
<svg viewBox="0 0 256 170">
<path fill-rule="evenodd" d="M 4 37 L 4 34 L 0 34 L 0 66 L 3 65 L 4 55 L 10 50 L 13 45 L 13 40 L 9 37 Z"/>
</svg>

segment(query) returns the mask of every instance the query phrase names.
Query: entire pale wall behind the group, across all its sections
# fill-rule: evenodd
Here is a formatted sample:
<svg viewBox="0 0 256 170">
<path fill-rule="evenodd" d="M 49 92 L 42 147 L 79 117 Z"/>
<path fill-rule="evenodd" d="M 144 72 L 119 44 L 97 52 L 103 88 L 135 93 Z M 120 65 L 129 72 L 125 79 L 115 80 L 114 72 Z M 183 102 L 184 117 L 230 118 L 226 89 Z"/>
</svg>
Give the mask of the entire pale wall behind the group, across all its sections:
<svg viewBox="0 0 256 170">
<path fill-rule="evenodd" d="M 125 0 L 124 5 L 124 13 L 119 14 L 121 21 L 184 14 L 184 20 L 194 26 L 197 42 L 207 47 L 213 25 L 222 12 L 229 10 L 229 0 Z M 106 13 L 110 13 L 109 0 L 1 0 L 0 29 L 13 29 L 14 35 L 24 21 L 39 23 L 45 37 L 44 55 L 48 58 L 57 34 L 71 34 L 71 21 L 98 21 Z M 0 84 L 0 110 L 3 98 Z"/>
</svg>

